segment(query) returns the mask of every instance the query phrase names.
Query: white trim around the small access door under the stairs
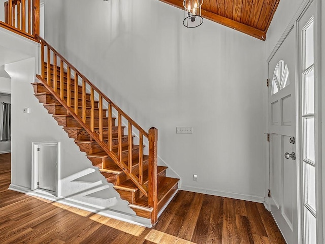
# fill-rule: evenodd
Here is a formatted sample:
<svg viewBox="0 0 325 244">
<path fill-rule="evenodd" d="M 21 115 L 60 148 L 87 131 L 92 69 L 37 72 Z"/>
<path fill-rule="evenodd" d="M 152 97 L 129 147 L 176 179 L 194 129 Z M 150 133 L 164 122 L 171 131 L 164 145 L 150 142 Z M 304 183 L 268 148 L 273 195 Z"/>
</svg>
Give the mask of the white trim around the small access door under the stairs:
<svg viewBox="0 0 325 244">
<path fill-rule="evenodd" d="M 39 159 L 38 154 L 36 153 L 39 145 L 44 146 L 56 146 L 58 150 L 58 162 L 57 162 L 57 183 L 56 183 L 56 196 L 60 196 L 60 188 L 59 188 L 59 169 L 60 169 L 60 147 L 59 142 L 44 142 L 44 141 L 32 141 L 31 142 L 31 187 L 32 191 L 38 189 L 37 182 L 39 181 Z"/>
</svg>

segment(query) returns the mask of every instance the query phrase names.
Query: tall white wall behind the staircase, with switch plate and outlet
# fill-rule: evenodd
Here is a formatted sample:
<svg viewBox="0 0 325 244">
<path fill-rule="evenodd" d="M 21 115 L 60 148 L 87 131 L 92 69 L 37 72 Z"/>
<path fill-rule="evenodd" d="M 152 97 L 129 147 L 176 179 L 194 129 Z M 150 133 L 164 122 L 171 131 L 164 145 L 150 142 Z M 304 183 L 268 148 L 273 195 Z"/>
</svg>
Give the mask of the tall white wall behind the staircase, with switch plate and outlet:
<svg viewBox="0 0 325 244">
<path fill-rule="evenodd" d="M 265 43 L 209 20 L 187 29 L 183 15 L 159 1 L 47 0 L 45 37 L 143 128 L 158 129 L 158 156 L 183 189 L 263 201 Z"/>
</svg>

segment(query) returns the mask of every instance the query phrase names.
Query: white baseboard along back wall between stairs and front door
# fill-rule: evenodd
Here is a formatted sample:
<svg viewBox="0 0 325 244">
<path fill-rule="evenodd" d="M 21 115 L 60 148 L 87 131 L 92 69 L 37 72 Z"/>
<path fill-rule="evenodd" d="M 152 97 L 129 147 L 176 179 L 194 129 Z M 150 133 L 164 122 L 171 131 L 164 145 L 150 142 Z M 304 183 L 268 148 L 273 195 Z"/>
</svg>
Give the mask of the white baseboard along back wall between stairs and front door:
<svg viewBox="0 0 325 244">
<path fill-rule="evenodd" d="M 245 201 L 250 201 L 250 202 L 259 202 L 259 203 L 264 203 L 265 202 L 264 197 L 255 196 L 255 195 L 245 195 L 245 194 L 233 193 L 233 192 L 223 192 L 223 191 L 196 188 L 196 187 L 190 187 L 190 186 L 184 186 L 184 185 L 180 186 L 180 190 L 189 191 L 189 192 L 203 193 L 203 194 L 219 196 L 219 197 L 229 197 L 229 198 L 245 200 Z"/>
</svg>

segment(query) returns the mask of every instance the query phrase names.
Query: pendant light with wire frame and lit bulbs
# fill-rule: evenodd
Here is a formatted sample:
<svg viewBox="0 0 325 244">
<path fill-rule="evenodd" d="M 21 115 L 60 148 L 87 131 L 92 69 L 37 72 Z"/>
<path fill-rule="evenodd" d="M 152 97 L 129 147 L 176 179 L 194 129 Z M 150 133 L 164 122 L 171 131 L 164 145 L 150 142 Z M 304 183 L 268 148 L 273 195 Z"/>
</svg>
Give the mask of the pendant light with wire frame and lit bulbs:
<svg viewBox="0 0 325 244">
<path fill-rule="evenodd" d="M 187 28 L 195 28 L 203 23 L 201 16 L 201 6 L 203 0 L 184 0 L 183 6 L 185 10 L 185 16 L 183 24 Z"/>
</svg>

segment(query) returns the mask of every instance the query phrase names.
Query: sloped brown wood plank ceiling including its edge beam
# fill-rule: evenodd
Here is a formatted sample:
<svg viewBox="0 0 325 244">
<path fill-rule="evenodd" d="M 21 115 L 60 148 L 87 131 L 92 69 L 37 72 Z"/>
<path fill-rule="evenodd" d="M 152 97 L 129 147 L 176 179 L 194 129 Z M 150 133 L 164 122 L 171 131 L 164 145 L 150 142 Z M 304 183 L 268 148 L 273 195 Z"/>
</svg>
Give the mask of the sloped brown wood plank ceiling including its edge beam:
<svg viewBox="0 0 325 244">
<path fill-rule="evenodd" d="M 183 0 L 160 0 L 183 8 Z M 264 40 L 280 0 L 203 0 L 202 17 Z"/>
</svg>

